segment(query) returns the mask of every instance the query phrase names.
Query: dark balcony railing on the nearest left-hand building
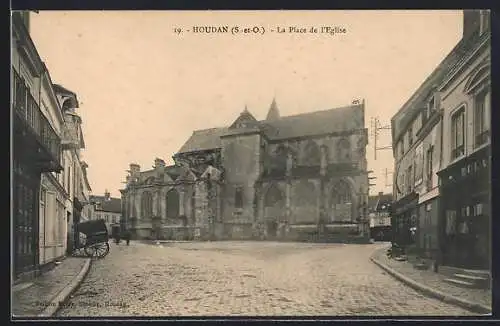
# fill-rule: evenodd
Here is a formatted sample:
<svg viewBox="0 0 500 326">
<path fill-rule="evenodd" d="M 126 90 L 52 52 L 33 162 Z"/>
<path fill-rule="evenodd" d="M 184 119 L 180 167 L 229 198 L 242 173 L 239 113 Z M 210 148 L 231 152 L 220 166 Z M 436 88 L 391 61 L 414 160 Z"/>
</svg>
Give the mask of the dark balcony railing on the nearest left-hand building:
<svg viewBox="0 0 500 326">
<path fill-rule="evenodd" d="M 29 92 L 24 80 L 12 69 L 13 73 L 13 105 L 15 114 L 35 134 L 40 144 L 51 156 L 52 166 L 59 166 L 61 158 L 61 139 L 56 134 L 40 107 Z M 57 168 L 50 169 L 57 170 Z"/>
</svg>

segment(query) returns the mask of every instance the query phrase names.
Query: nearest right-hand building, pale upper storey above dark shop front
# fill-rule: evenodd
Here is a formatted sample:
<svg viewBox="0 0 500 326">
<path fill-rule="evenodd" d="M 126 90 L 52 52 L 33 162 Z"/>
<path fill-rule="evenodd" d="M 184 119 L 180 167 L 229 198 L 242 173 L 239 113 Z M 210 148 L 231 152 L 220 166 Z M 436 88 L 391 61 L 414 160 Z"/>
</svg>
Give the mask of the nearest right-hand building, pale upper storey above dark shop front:
<svg viewBox="0 0 500 326">
<path fill-rule="evenodd" d="M 443 263 L 491 267 L 491 31 L 487 10 L 466 11 L 460 62 L 440 85 L 443 164 L 439 234 Z"/>
</svg>

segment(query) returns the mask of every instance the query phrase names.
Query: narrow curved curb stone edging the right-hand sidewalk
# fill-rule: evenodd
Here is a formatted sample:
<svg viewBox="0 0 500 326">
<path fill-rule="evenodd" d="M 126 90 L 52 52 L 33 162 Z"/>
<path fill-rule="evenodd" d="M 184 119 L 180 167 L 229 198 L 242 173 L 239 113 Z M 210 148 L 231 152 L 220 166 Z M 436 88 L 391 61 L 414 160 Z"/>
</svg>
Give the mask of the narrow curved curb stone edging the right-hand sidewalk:
<svg viewBox="0 0 500 326">
<path fill-rule="evenodd" d="M 459 299 L 459 298 L 447 295 L 447 294 L 445 294 L 445 293 L 443 293 L 441 291 L 432 289 L 432 288 L 430 288 L 428 286 L 425 286 L 423 284 L 420 284 L 420 283 L 412 280 L 411 278 L 409 278 L 407 276 L 404 276 L 403 274 L 401 274 L 399 272 L 396 272 L 394 269 L 392 269 L 392 268 L 388 267 L 387 265 L 381 263 L 380 261 L 378 261 L 373 256 L 370 257 L 370 260 L 375 265 L 379 266 L 384 271 L 386 271 L 387 273 L 389 273 L 395 279 L 401 281 L 402 283 L 410 286 L 411 288 L 413 288 L 413 289 L 415 289 L 415 290 L 417 290 L 419 292 L 422 292 L 422 293 L 424 293 L 424 294 L 426 294 L 426 295 L 428 295 L 430 297 L 436 298 L 436 299 L 441 300 L 441 301 L 446 302 L 446 303 L 454 304 L 456 306 L 459 306 L 460 308 L 467 309 L 467 310 L 469 310 L 471 312 L 475 312 L 475 313 L 479 313 L 479 314 L 491 314 L 491 308 L 490 307 L 481 305 L 479 303 L 473 303 L 473 302 L 470 302 L 470 301 L 467 301 L 467 300 L 464 300 L 464 299 Z"/>
</svg>

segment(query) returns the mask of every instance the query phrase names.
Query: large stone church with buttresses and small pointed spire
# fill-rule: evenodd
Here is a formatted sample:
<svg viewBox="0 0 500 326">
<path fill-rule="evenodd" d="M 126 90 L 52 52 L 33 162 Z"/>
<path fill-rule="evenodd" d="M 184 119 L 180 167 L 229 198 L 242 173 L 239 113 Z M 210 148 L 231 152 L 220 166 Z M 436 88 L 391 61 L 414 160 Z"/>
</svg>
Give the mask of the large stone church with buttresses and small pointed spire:
<svg viewBox="0 0 500 326">
<path fill-rule="evenodd" d="M 124 227 L 138 239 L 367 236 L 362 103 L 265 120 L 245 107 L 223 128 L 194 131 L 166 166 L 130 164 Z"/>
</svg>

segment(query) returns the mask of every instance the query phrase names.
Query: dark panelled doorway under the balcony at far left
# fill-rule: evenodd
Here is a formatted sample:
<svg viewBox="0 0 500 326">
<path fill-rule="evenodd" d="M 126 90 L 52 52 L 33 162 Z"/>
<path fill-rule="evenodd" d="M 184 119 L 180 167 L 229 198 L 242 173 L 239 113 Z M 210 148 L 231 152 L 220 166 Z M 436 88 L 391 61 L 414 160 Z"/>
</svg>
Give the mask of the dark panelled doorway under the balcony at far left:
<svg viewBox="0 0 500 326">
<path fill-rule="evenodd" d="M 39 257 L 40 174 L 14 162 L 14 273 L 34 270 Z"/>
</svg>

